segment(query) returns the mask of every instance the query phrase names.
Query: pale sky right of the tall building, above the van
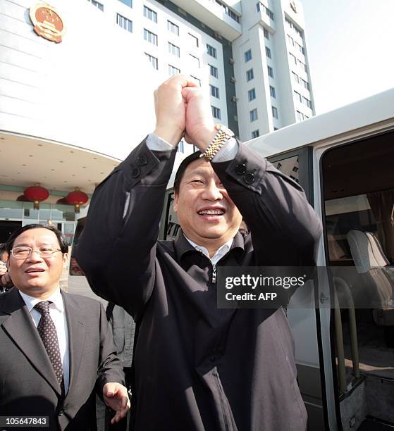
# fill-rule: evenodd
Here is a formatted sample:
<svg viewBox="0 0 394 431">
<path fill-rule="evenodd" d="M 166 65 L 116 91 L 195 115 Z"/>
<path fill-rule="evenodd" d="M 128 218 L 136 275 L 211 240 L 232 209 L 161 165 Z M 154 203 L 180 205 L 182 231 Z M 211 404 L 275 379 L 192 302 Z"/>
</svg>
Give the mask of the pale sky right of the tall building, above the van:
<svg viewBox="0 0 394 431">
<path fill-rule="evenodd" d="M 301 1 L 317 115 L 394 87 L 394 0 Z"/>
</svg>

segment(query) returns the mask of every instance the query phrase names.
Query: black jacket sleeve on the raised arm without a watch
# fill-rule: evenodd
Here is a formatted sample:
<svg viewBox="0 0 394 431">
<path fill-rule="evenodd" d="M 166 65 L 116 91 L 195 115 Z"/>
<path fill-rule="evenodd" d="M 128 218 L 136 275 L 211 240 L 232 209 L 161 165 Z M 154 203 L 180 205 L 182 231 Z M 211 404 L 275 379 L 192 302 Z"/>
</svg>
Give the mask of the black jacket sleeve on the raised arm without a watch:
<svg viewBox="0 0 394 431">
<path fill-rule="evenodd" d="M 154 261 L 166 185 L 176 149 L 143 141 L 95 190 L 76 258 L 92 290 L 135 319 L 154 286 Z"/>
</svg>

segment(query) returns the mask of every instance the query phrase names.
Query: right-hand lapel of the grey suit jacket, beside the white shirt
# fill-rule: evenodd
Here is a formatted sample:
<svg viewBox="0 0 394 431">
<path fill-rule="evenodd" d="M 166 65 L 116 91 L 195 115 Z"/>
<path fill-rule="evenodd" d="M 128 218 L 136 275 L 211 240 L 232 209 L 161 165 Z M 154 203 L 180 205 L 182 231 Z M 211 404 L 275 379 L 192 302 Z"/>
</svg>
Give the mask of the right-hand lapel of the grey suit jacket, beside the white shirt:
<svg viewBox="0 0 394 431">
<path fill-rule="evenodd" d="M 73 387 L 78 387 L 78 370 L 80 361 L 85 347 L 85 318 L 75 299 L 63 293 L 64 309 L 66 311 L 68 327 L 68 346 L 70 349 L 70 384 L 68 385 L 68 394 Z"/>
</svg>

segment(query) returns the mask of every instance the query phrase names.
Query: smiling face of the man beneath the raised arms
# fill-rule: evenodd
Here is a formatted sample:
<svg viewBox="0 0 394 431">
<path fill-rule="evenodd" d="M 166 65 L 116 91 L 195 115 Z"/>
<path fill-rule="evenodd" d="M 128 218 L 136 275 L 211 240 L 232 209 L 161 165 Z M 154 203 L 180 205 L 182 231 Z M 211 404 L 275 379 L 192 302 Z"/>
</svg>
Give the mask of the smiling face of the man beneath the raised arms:
<svg viewBox="0 0 394 431">
<path fill-rule="evenodd" d="M 174 211 L 186 237 L 210 255 L 235 236 L 242 220 L 211 163 L 203 158 L 187 166 L 175 194 Z"/>
</svg>

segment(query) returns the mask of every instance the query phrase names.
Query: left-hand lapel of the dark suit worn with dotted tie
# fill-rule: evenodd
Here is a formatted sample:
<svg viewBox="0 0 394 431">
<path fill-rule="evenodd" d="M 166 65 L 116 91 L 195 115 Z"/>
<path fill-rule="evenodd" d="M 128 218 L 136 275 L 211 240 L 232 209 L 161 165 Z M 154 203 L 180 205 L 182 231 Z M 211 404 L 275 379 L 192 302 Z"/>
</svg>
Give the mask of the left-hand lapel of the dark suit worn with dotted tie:
<svg viewBox="0 0 394 431">
<path fill-rule="evenodd" d="M 2 326 L 4 330 L 6 330 L 20 351 L 32 363 L 32 366 L 47 380 L 56 393 L 60 395 L 61 389 L 56 379 L 54 368 L 51 361 L 49 361 L 41 337 L 39 337 L 37 328 L 18 289 L 14 288 L 13 292 L 9 292 L 4 302 L 3 311 L 10 314 L 3 322 Z"/>
</svg>

